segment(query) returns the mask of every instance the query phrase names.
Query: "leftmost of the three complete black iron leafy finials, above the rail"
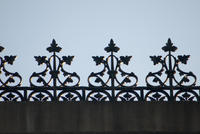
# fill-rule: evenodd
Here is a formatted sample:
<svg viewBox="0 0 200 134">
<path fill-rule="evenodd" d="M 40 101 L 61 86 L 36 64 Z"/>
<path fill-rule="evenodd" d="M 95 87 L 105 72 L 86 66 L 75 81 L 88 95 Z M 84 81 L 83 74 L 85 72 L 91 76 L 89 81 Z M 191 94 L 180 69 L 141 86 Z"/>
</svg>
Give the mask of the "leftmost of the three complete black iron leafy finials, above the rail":
<svg viewBox="0 0 200 134">
<path fill-rule="evenodd" d="M 67 72 L 63 65 L 71 65 L 71 62 L 74 58 L 74 56 L 62 56 L 62 58 L 58 57 L 56 53 L 59 53 L 61 51 L 61 47 L 58 46 L 56 41 L 53 39 L 51 46 L 47 48 L 47 51 L 49 53 L 53 53 L 48 59 L 46 56 L 35 56 L 35 60 L 38 62 L 38 65 L 45 64 L 45 70 L 36 73 L 34 72 L 30 77 L 30 84 L 31 86 L 38 86 L 33 83 L 33 78 L 36 78 L 36 83 L 41 84 L 40 86 L 78 86 L 80 82 L 80 77 L 75 73 L 69 73 Z M 45 80 L 45 76 L 50 74 L 50 79 L 48 81 Z M 62 81 L 59 78 L 60 73 L 62 72 L 64 76 L 64 80 Z M 53 81 L 53 84 L 51 82 Z M 58 84 L 59 83 L 59 84 Z"/>
</svg>

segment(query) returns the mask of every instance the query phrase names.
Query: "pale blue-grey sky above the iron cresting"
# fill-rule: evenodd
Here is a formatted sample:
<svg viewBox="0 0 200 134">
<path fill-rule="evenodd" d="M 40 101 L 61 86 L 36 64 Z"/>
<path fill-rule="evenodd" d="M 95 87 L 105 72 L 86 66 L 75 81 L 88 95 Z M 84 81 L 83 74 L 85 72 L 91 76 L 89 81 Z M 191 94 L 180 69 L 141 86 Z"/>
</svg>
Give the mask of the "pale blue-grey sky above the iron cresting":
<svg viewBox="0 0 200 134">
<path fill-rule="evenodd" d="M 0 54 L 17 55 L 10 71 L 19 72 L 23 86 L 33 72 L 42 71 L 34 56 L 50 56 L 46 48 L 54 38 L 62 51 L 75 55 L 69 72 L 77 72 L 87 86 L 91 72 L 98 72 L 92 56 L 107 56 L 104 48 L 113 38 L 117 56 L 133 56 L 127 72 L 145 77 L 154 67 L 149 56 L 165 53 L 171 38 L 175 55 L 190 54 L 181 68 L 200 76 L 200 0 L 0 0 Z M 199 80 L 197 80 L 199 85 Z"/>
</svg>

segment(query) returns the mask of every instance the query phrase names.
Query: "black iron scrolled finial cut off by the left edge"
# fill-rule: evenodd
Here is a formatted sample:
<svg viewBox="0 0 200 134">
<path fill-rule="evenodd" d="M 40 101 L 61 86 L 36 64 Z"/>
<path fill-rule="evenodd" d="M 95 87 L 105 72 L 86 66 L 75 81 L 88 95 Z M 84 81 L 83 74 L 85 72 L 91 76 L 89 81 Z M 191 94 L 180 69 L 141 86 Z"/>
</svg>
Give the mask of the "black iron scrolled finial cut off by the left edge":
<svg viewBox="0 0 200 134">
<path fill-rule="evenodd" d="M 4 50 L 4 47 L 0 46 L 0 53 Z M 21 85 L 22 77 L 18 72 L 12 73 L 6 69 L 6 64 L 13 65 L 16 56 L 0 56 L 0 87 L 17 87 Z M 4 75 L 4 76 L 3 76 Z M 3 80 L 3 77 L 5 80 Z"/>
</svg>

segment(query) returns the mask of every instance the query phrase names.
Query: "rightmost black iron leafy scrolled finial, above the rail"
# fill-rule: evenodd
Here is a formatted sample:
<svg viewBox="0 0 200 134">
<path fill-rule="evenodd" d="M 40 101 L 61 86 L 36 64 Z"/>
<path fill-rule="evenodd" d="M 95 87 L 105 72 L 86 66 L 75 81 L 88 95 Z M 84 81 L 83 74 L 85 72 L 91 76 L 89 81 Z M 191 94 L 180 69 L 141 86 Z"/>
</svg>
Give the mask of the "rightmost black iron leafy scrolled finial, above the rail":
<svg viewBox="0 0 200 134">
<path fill-rule="evenodd" d="M 172 52 L 175 52 L 177 47 L 173 45 L 170 39 L 168 39 L 166 45 L 162 47 L 162 50 L 164 52 L 168 52 L 168 54 L 163 59 L 162 56 L 150 56 L 154 65 L 160 64 L 161 69 L 154 73 L 150 72 L 147 75 L 147 86 L 195 86 L 196 76 L 192 72 L 182 71 L 179 67 L 180 63 L 187 64 L 190 55 L 178 55 L 178 57 L 173 56 Z M 161 77 L 164 71 L 166 78 L 162 80 Z M 176 74 L 179 75 L 179 78 L 176 78 Z M 150 80 L 152 81 L 149 82 Z M 156 83 L 157 85 L 153 85 L 152 83 Z"/>
</svg>

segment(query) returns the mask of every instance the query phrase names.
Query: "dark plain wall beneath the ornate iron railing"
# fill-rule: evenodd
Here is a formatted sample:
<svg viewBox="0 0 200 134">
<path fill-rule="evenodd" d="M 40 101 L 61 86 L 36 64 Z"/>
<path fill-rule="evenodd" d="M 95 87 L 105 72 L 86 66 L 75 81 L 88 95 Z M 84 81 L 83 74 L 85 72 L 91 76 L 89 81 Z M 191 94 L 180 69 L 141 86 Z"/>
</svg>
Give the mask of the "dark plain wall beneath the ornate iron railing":
<svg viewBox="0 0 200 134">
<path fill-rule="evenodd" d="M 200 133 L 197 102 L 0 103 L 0 133 Z"/>
</svg>

